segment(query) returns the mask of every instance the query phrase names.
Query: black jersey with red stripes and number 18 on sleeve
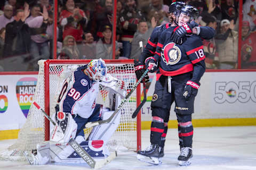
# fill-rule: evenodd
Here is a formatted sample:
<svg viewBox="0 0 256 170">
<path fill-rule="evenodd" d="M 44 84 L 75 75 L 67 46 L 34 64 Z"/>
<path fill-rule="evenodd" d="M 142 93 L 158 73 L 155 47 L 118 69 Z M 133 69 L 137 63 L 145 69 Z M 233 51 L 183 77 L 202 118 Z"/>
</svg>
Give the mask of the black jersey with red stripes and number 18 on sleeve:
<svg viewBox="0 0 256 170">
<path fill-rule="evenodd" d="M 195 64 L 201 62 L 198 65 L 201 68 L 196 71 L 197 79 L 200 79 L 205 72 L 202 40 L 197 35 L 188 35 L 181 45 L 175 44 L 171 40 L 175 28 L 166 29 L 158 39 L 154 58 L 159 62 L 159 71 L 166 76 L 175 76 L 193 71 Z"/>
</svg>

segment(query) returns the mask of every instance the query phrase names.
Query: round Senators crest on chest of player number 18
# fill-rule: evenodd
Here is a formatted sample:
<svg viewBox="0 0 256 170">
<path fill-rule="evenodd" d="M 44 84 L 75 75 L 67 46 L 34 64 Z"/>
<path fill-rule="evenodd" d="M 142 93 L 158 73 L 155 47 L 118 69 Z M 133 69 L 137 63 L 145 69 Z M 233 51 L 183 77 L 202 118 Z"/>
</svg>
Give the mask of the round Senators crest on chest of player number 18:
<svg viewBox="0 0 256 170">
<path fill-rule="evenodd" d="M 175 43 L 168 43 L 162 48 L 161 57 L 166 65 L 173 65 L 180 61 L 181 51 Z"/>
</svg>

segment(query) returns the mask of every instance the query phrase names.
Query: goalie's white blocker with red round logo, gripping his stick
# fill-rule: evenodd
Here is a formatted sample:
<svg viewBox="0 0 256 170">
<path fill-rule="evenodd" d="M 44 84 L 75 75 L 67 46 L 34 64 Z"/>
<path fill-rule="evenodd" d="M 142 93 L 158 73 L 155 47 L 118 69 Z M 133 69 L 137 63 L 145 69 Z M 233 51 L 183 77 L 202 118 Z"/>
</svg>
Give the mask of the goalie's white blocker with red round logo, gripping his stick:
<svg viewBox="0 0 256 170">
<path fill-rule="evenodd" d="M 51 141 L 68 143 L 71 137 L 75 138 L 77 124 L 70 113 L 57 112 L 52 115 L 52 119 L 57 125 L 50 125 Z"/>
</svg>

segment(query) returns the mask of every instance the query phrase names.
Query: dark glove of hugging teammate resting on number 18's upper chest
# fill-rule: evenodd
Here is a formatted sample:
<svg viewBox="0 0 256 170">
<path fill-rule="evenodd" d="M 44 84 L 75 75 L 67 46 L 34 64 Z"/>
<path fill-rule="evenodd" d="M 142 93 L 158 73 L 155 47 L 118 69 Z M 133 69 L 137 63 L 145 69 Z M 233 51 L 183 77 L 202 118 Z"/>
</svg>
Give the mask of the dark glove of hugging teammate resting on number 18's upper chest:
<svg viewBox="0 0 256 170">
<path fill-rule="evenodd" d="M 182 38 L 185 37 L 185 35 L 191 34 L 191 33 L 192 33 L 192 28 L 190 24 L 184 24 L 173 30 L 171 39 L 175 44 L 182 44 Z"/>
</svg>

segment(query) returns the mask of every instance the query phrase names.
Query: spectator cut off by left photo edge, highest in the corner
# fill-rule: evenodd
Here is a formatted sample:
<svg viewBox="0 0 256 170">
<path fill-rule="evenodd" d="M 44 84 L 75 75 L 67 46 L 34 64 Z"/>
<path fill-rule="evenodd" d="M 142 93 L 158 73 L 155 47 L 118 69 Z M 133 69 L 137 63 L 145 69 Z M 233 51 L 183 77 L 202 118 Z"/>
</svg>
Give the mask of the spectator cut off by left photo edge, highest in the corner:
<svg viewBox="0 0 256 170">
<path fill-rule="evenodd" d="M 13 19 L 12 5 L 4 5 L 4 14 L 0 16 L 0 29 L 6 26 L 7 23 L 12 22 Z"/>
</svg>

